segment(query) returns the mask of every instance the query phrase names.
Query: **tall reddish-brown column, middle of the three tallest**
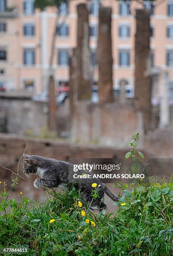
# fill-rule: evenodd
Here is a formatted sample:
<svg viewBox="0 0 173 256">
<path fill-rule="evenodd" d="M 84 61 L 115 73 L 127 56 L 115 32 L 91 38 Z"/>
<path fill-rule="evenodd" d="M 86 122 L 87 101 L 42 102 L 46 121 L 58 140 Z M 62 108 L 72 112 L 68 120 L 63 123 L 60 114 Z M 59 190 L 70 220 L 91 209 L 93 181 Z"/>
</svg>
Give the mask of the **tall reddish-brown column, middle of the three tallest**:
<svg viewBox="0 0 173 256">
<path fill-rule="evenodd" d="M 113 102 L 113 57 L 110 7 L 99 8 L 98 67 L 99 103 Z"/>
</svg>

